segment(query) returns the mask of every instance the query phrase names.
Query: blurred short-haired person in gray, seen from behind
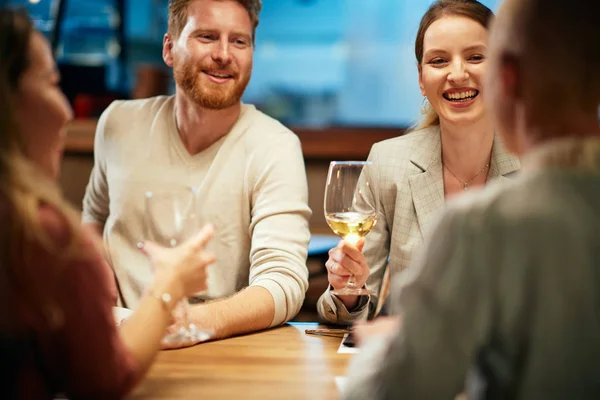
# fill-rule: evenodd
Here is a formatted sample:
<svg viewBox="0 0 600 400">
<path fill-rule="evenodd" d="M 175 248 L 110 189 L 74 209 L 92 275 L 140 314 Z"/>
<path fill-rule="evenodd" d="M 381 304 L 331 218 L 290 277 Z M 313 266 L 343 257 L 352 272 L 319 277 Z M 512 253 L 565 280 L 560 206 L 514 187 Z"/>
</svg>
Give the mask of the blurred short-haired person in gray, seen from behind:
<svg viewBox="0 0 600 400">
<path fill-rule="evenodd" d="M 514 181 L 457 198 L 345 399 L 600 398 L 600 3 L 505 0 L 485 86 Z M 466 384 L 465 384 L 466 383 Z"/>
</svg>

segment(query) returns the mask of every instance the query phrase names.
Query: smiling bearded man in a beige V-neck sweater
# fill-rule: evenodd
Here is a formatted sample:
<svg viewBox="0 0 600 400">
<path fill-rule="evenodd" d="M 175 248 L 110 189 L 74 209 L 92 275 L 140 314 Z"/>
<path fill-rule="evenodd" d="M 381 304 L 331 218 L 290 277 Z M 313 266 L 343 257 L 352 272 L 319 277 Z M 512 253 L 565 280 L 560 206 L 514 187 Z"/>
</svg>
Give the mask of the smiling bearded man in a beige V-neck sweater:
<svg viewBox="0 0 600 400">
<path fill-rule="evenodd" d="M 106 109 L 83 204 L 83 222 L 103 234 L 120 305 L 134 308 L 152 275 L 138 248 L 147 235 L 145 193 L 194 189 L 200 220 L 215 226 L 208 248 L 217 261 L 188 315 L 213 339 L 290 320 L 308 287 L 311 211 L 300 142 L 241 102 L 261 6 L 170 2 L 163 59 L 175 95 Z"/>
</svg>

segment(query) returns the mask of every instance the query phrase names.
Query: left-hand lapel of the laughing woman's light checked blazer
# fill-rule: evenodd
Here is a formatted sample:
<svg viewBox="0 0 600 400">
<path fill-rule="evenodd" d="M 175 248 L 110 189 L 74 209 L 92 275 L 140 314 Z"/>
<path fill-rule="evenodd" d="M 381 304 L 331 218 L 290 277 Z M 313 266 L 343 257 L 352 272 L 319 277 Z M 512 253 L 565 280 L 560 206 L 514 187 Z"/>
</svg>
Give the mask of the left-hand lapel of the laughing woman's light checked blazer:
<svg viewBox="0 0 600 400">
<path fill-rule="evenodd" d="M 444 206 L 442 142 L 439 127 L 432 127 L 420 134 L 423 137 L 415 143 L 410 158 L 412 175 L 408 181 L 421 234 L 425 234 Z"/>
</svg>

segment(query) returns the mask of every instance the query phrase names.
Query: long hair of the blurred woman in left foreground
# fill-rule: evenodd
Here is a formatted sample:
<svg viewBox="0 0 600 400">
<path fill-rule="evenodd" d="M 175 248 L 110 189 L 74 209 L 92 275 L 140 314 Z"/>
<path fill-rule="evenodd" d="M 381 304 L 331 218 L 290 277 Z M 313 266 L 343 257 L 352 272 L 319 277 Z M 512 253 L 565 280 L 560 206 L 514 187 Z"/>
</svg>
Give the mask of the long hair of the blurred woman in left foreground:
<svg viewBox="0 0 600 400">
<path fill-rule="evenodd" d="M 39 312 L 45 322 L 60 323 L 60 310 L 47 295 L 47 282 L 37 279 L 35 271 L 27 270 L 31 250 L 42 246 L 58 259 L 74 256 L 80 235 L 76 211 L 64 200 L 55 182 L 47 178 L 25 156 L 25 143 L 16 117 L 19 82 L 29 67 L 29 47 L 33 25 L 22 10 L 0 9 L 0 200 L 7 207 L 0 230 L 0 293 L 17 293 L 19 301 Z M 50 149 L 49 149 L 50 150 Z M 63 219 L 69 242 L 60 249 L 40 221 L 40 206 L 48 205 Z M 40 267 L 51 268 L 52 265 Z M 14 305 L 13 305 L 14 306 Z M 6 304 L 0 305 L 0 325 L 15 328 Z M 18 325 L 17 325 L 18 326 Z"/>
</svg>

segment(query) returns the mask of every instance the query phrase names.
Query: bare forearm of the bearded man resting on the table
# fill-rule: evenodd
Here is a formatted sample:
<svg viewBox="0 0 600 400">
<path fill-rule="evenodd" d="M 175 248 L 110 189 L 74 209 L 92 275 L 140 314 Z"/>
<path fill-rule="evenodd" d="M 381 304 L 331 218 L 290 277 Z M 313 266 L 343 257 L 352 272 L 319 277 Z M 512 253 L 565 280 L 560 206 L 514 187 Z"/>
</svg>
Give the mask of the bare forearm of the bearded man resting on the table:
<svg viewBox="0 0 600 400">
<path fill-rule="evenodd" d="M 250 286 L 231 297 L 190 307 L 190 320 L 213 330 L 215 339 L 266 329 L 274 316 L 273 296 L 261 286 Z"/>
</svg>

